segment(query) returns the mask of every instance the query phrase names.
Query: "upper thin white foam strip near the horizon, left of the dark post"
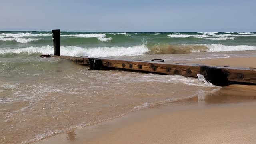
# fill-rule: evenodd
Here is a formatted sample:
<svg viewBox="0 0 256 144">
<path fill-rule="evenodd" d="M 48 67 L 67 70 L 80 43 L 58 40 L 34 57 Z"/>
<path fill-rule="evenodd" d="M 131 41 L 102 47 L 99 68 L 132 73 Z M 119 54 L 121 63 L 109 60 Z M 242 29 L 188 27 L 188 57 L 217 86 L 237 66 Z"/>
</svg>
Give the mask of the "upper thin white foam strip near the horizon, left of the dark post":
<svg viewBox="0 0 256 144">
<path fill-rule="evenodd" d="M 22 38 L 22 37 L 38 37 L 38 36 L 52 36 L 52 34 L 31 34 L 30 32 L 26 33 L 18 33 L 18 34 L 12 34 L 12 33 L 1 33 L 0 38 Z"/>
</svg>

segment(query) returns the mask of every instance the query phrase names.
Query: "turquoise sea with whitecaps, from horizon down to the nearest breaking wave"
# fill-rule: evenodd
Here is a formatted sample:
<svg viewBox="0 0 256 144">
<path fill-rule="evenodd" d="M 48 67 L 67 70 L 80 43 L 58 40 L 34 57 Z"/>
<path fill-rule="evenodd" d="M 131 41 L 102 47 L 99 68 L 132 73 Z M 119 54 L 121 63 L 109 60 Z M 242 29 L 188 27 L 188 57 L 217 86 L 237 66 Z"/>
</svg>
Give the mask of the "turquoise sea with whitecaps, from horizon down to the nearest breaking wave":
<svg viewBox="0 0 256 144">
<path fill-rule="evenodd" d="M 52 54 L 51 32 L 0 32 L 0 55 Z M 62 54 L 136 56 L 256 50 L 253 32 L 61 32 Z"/>
</svg>

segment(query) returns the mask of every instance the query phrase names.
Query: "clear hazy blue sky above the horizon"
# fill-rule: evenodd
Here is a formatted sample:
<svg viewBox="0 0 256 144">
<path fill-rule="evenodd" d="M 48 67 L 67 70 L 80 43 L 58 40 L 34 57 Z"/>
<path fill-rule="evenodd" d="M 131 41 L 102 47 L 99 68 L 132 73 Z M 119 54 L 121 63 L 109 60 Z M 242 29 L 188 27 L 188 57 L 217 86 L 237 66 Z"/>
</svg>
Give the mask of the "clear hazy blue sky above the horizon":
<svg viewBox="0 0 256 144">
<path fill-rule="evenodd" d="M 1 31 L 256 32 L 256 0 L 0 0 Z"/>
</svg>

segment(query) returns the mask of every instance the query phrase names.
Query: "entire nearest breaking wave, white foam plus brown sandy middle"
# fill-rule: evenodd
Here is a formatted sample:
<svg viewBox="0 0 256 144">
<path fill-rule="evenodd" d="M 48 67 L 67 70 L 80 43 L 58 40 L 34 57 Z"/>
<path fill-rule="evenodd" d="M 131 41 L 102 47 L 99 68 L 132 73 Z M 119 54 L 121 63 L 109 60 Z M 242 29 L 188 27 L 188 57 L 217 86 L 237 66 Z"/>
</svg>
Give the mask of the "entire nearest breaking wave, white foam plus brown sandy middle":
<svg viewBox="0 0 256 144">
<path fill-rule="evenodd" d="M 256 50 L 256 46 L 238 45 L 226 46 L 222 44 L 141 44 L 129 47 L 81 47 L 62 46 L 61 55 L 69 56 L 90 56 L 90 57 L 110 57 L 110 56 L 139 56 L 144 54 L 187 54 L 192 52 L 231 52 Z M 41 47 L 26 48 L 0 48 L 0 54 L 53 54 L 53 47 L 50 45 Z"/>
</svg>

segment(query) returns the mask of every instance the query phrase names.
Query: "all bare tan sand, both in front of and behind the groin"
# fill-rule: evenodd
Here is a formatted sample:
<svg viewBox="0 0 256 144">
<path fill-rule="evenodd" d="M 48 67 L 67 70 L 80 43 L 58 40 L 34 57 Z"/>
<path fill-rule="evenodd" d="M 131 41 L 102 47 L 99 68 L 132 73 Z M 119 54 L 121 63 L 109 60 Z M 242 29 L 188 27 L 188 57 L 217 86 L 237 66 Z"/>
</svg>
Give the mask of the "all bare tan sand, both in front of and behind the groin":
<svg viewBox="0 0 256 144">
<path fill-rule="evenodd" d="M 256 58 L 190 61 L 256 67 Z M 227 65 L 228 64 L 228 65 Z M 245 64 L 245 65 L 242 65 Z M 256 86 L 231 85 L 212 94 L 154 105 L 36 144 L 254 144 Z"/>
</svg>

